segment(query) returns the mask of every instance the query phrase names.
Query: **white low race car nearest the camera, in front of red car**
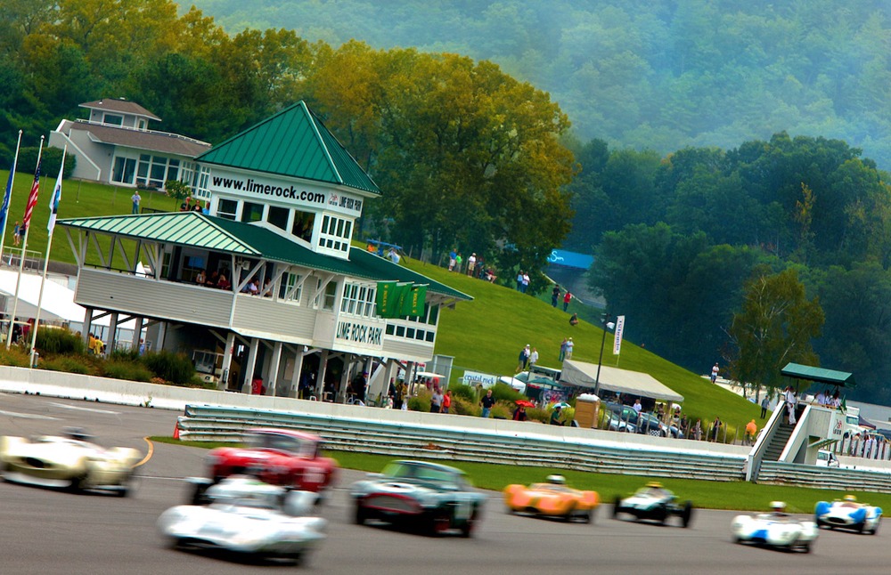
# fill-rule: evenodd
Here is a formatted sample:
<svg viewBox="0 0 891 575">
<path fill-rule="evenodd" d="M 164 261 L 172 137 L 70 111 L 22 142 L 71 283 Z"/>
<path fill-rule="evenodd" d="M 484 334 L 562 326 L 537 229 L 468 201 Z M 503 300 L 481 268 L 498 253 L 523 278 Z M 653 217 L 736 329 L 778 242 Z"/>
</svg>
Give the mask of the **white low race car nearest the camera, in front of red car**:
<svg viewBox="0 0 891 575">
<path fill-rule="evenodd" d="M 233 475 L 221 482 L 195 479 L 192 505 L 171 507 L 158 519 L 173 547 L 216 548 L 301 563 L 324 539 L 328 522 L 309 515 L 318 494 Z M 201 503 L 204 505 L 201 505 Z"/>
</svg>

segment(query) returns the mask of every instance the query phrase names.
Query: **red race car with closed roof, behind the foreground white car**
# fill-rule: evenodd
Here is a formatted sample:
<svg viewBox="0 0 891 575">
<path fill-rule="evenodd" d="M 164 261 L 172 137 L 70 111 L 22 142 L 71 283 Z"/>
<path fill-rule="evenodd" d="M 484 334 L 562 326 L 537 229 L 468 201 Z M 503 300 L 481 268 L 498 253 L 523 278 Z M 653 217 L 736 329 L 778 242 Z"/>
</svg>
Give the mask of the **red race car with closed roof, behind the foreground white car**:
<svg viewBox="0 0 891 575">
<path fill-rule="evenodd" d="M 286 429 L 249 429 L 244 447 L 211 449 L 208 467 L 218 482 L 235 474 L 298 490 L 319 492 L 334 482 L 337 462 L 323 458 L 322 438 Z"/>
</svg>

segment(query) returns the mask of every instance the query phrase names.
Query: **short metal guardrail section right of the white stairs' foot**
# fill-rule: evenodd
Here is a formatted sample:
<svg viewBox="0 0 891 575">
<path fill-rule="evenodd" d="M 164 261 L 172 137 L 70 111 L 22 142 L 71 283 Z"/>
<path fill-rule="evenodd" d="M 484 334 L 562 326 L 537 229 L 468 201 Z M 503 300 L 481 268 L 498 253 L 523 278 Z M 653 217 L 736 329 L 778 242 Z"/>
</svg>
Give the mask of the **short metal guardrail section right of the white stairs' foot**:
<svg viewBox="0 0 891 575">
<path fill-rule="evenodd" d="M 866 469 L 805 466 L 798 463 L 763 461 L 759 483 L 777 483 L 827 490 L 891 490 L 891 474 Z"/>
</svg>

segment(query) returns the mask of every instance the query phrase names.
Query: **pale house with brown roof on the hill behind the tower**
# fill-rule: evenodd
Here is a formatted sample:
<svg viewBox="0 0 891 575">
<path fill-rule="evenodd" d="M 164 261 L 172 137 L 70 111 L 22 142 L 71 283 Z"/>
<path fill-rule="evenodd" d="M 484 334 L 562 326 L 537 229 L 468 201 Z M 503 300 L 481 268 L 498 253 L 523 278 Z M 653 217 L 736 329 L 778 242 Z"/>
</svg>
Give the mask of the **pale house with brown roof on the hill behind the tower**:
<svg viewBox="0 0 891 575">
<path fill-rule="evenodd" d="M 49 139 L 54 148 L 68 145 L 77 158 L 72 177 L 145 190 L 163 190 L 168 180 L 193 185 L 200 179 L 195 158 L 210 150 L 208 142 L 150 130 L 149 123 L 161 119 L 135 101 L 109 98 L 80 107 L 89 117 L 62 120 Z"/>
</svg>

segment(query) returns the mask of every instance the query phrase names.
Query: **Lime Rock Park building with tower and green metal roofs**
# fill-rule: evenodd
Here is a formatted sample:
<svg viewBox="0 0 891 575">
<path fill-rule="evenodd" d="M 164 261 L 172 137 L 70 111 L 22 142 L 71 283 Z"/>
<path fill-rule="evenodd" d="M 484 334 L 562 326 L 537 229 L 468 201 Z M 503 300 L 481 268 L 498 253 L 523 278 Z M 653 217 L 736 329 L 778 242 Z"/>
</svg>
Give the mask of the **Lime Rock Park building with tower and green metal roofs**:
<svg viewBox="0 0 891 575">
<path fill-rule="evenodd" d="M 110 315 L 110 334 L 132 319 L 127 344 L 144 328 L 144 344 L 188 353 L 221 389 L 262 380 L 254 391 L 332 401 L 364 373 L 377 395 L 432 359 L 440 310 L 470 296 L 350 245 L 380 190 L 305 103 L 196 161 L 208 215 L 59 222 L 78 262 L 85 337 L 96 318 Z M 381 317 L 378 292 L 393 282 L 411 284 L 414 306 Z"/>
</svg>

